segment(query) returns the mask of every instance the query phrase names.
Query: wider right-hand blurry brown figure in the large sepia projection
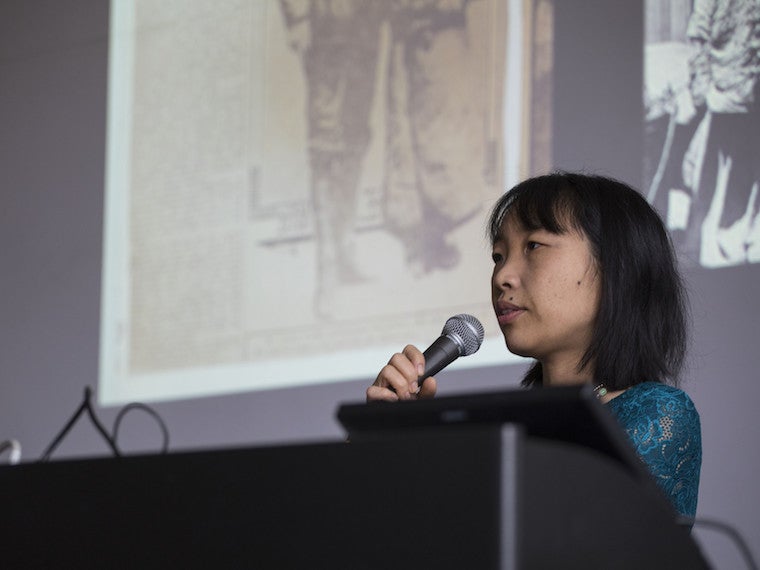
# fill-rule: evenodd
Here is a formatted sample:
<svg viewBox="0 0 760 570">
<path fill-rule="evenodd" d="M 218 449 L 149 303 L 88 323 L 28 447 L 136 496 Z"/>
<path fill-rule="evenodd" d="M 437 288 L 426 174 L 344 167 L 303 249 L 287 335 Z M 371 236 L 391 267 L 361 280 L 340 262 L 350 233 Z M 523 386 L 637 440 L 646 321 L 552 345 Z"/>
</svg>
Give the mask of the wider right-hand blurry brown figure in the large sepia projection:
<svg viewBox="0 0 760 570">
<path fill-rule="evenodd" d="M 501 178 L 489 154 L 501 137 L 484 129 L 501 117 L 489 107 L 501 106 L 501 74 L 483 66 L 497 57 L 483 40 L 495 38 L 488 11 L 469 4 L 406 0 L 389 14 L 385 216 L 417 274 L 458 265 L 447 236 L 482 211 L 478 187 Z"/>
</svg>

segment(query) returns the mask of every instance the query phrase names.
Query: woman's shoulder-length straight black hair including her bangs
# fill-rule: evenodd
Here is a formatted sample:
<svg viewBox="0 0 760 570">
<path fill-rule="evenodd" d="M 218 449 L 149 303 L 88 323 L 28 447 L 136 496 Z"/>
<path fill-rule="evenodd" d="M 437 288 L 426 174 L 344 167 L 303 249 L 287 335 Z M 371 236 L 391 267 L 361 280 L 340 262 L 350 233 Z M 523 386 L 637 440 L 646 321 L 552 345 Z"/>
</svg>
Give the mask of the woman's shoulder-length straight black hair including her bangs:
<svg viewBox="0 0 760 570">
<path fill-rule="evenodd" d="M 578 371 L 593 363 L 594 382 L 623 390 L 646 381 L 678 384 L 688 344 L 688 302 L 662 220 L 639 192 L 598 175 L 556 172 L 521 182 L 491 212 L 491 243 L 507 218 L 526 229 L 580 231 L 601 278 L 591 344 Z M 523 378 L 542 383 L 541 363 Z"/>
</svg>

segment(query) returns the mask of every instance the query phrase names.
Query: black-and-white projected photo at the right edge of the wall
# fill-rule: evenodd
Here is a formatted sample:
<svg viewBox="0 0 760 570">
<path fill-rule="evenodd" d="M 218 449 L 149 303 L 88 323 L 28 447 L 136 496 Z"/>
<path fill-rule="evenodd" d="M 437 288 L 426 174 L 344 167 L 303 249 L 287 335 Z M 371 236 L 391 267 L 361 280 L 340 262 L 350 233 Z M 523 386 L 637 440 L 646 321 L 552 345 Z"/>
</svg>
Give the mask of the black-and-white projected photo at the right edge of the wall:
<svg viewBox="0 0 760 570">
<path fill-rule="evenodd" d="M 646 2 L 645 184 L 687 262 L 760 261 L 760 6 Z"/>
</svg>

